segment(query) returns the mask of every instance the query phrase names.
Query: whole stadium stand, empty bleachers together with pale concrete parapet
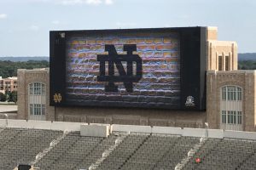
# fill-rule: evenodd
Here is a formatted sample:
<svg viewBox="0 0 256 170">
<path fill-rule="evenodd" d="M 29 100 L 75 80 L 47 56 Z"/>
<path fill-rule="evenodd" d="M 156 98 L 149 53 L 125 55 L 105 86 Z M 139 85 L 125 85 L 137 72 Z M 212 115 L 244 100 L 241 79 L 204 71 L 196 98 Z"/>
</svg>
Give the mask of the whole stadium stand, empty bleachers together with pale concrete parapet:
<svg viewBox="0 0 256 170">
<path fill-rule="evenodd" d="M 256 161 L 256 133 L 20 120 L 0 124 L 3 170 L 18 165 L 40 170 L 254 169 Z M 91 132 L 99 136 L 86 136 Z"/>
</svg>

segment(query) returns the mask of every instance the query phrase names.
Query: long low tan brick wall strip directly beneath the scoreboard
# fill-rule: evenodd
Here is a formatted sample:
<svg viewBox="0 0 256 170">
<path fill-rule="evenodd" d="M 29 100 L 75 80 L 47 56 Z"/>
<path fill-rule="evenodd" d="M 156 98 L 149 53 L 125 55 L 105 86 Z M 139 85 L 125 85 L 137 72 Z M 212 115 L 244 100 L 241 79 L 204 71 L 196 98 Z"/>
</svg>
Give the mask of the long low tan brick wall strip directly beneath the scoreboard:
<svg viewBox="0 0 256 170">
<path fill-rule="evenodd" d="M 203 127 L 206 112 L 131 108 L 56 107 L 55 120 L 172 127 Z"/>
</svg>

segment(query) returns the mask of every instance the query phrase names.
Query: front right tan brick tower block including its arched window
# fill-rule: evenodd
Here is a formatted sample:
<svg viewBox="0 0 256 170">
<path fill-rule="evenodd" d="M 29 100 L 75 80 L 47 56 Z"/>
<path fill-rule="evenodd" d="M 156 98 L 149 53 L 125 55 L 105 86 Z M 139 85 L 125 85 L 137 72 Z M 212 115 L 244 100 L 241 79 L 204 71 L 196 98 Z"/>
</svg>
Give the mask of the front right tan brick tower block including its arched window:
<svg viewBox="0 0 256 170">
<path fill-rule="evenodd" d="M 207 71 L 207 122 L 210 127 L 255 131 L 255 73 Z"/>
</svg>

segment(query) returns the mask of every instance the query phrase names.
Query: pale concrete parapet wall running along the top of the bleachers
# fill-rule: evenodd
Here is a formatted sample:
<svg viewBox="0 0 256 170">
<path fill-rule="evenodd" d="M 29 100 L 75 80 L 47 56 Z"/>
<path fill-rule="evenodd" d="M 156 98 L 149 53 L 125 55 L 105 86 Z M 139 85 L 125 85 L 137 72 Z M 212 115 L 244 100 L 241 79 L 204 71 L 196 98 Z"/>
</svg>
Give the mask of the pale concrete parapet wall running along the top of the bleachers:
<svg viewBox="0 0 256 170">
<path fill-rule="evenodd" d="M 61 131 L 80 131 L 84 136 L 102 136 L 107 137 L 109 133 L 126 132 L 126 133 L 157 133 L 157 134 L 173 134 L 180 136 L 205 137 L 205 128 L 181 128 L 181 127 L 158 127 L 158 126 L 134 126 L 134 125 L 88 125 L 81 122 L 49 122 L 49 121 L 26 121 L 26 120 L 5 120 L 0 119 L 0 127 L 22 127 L 35 129 L 51 129 Z M 256 140 L 255 132 L 238 132 L 224 131 L 222 129 L 208 129 L 209 138 L 232 138 L 232 139 L 253 139 Z"/>
</svg>

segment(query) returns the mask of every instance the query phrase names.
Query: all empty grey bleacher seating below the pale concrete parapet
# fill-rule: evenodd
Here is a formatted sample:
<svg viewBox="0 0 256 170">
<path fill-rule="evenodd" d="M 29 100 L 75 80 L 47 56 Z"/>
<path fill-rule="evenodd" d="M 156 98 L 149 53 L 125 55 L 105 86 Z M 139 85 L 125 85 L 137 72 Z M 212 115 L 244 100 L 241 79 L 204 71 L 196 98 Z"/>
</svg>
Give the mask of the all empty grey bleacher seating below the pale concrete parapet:
<svg viewBox="0 0 256 170">
<path fill-rule="evenodd" d="M 200 141 L 198 137 L 160 133 L 114 132 L 102 138 L 81 136 L 79 132 L 6 127 L 0 128 L 0 170 L 14 169 L 18 164 L 40 170 L 164 170 L 175 169 L 178 164 L 186 170 L 256 167 L 255 140 Z M 42 152 L 44 155 L 35 161 Z"/>
</svg>

